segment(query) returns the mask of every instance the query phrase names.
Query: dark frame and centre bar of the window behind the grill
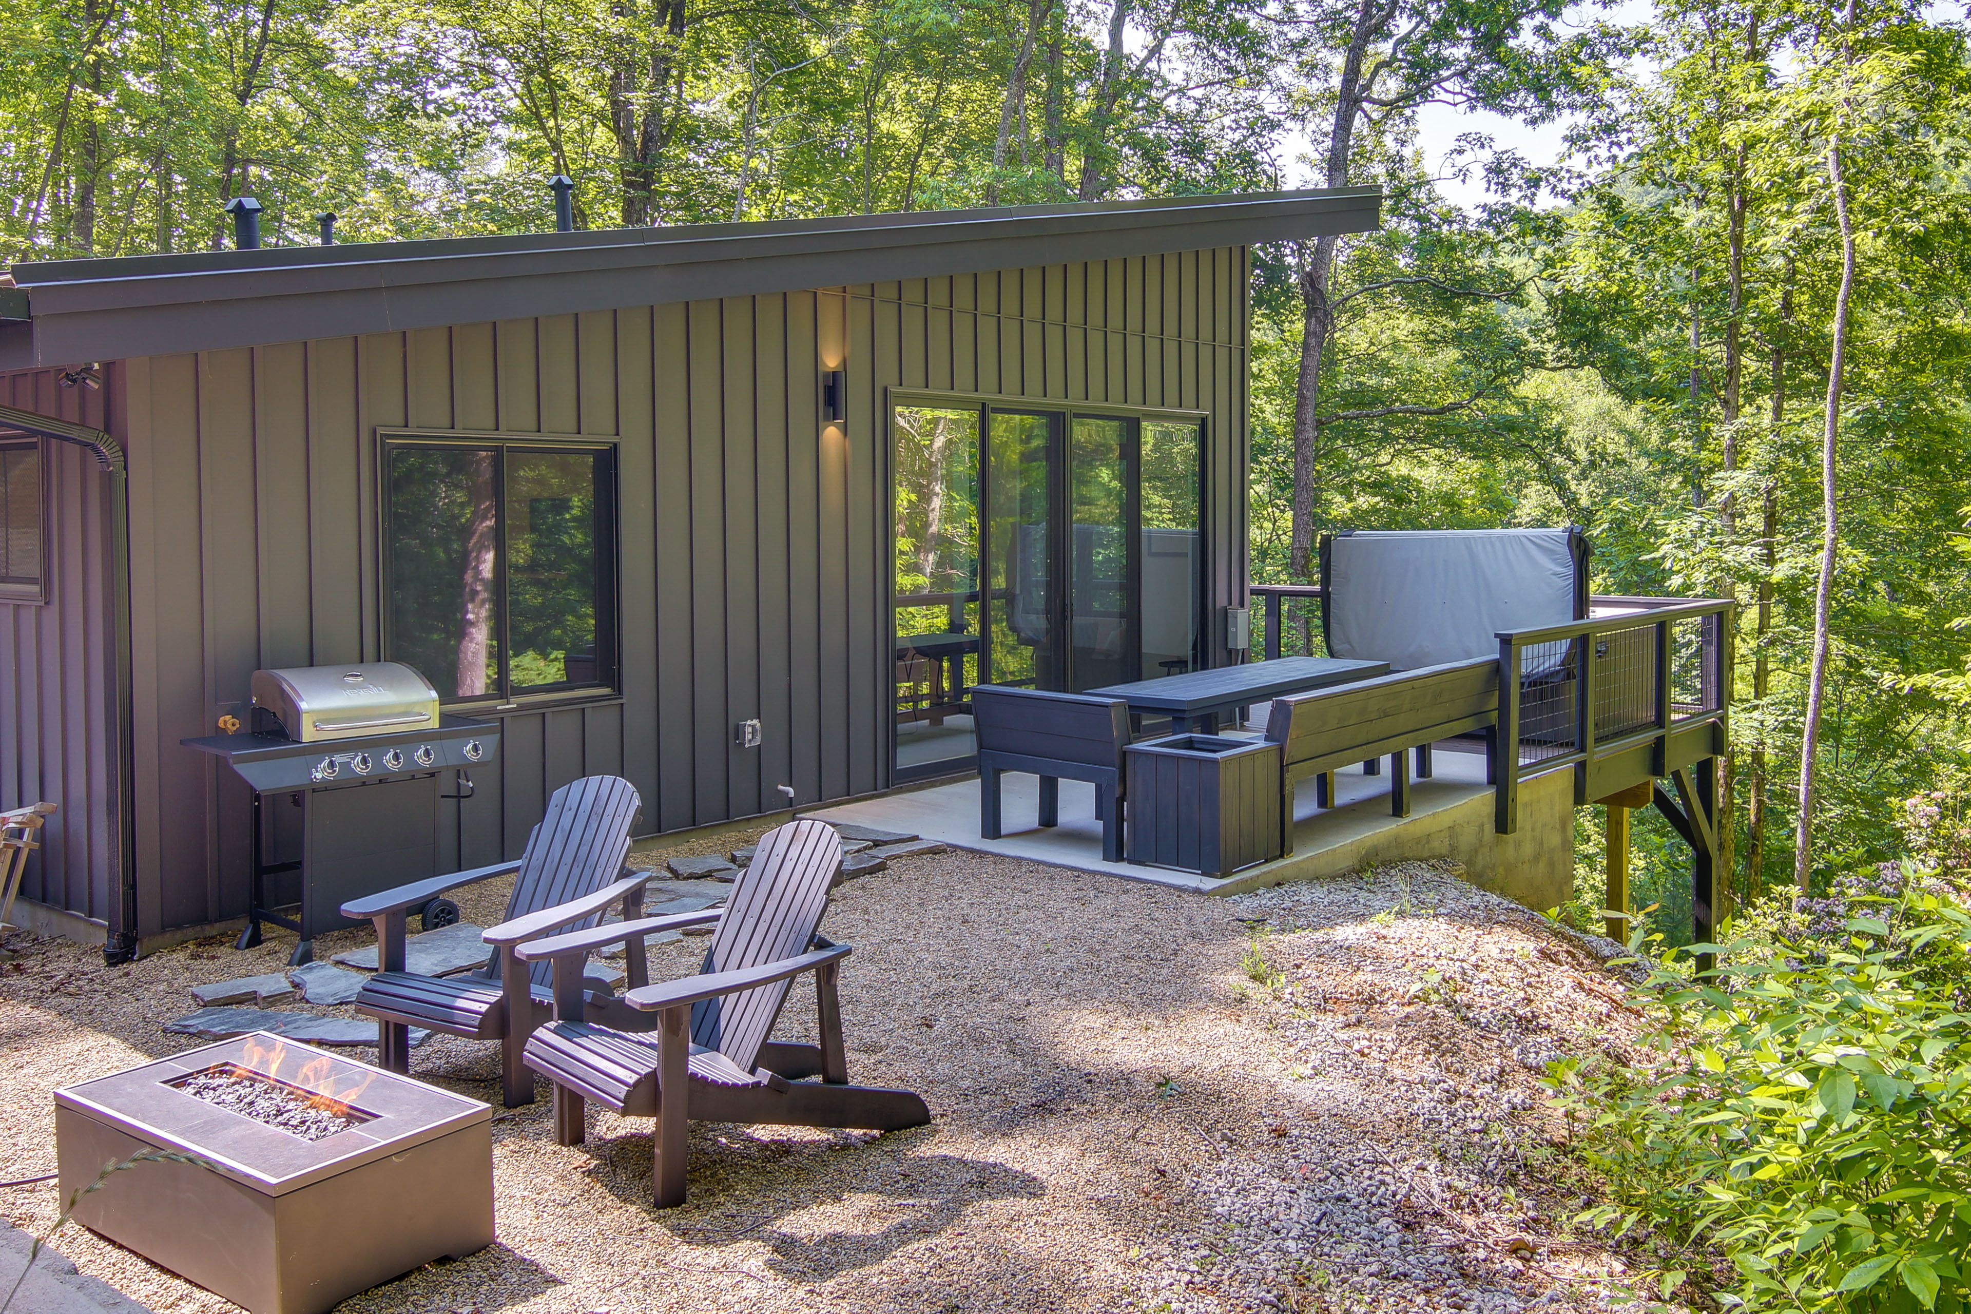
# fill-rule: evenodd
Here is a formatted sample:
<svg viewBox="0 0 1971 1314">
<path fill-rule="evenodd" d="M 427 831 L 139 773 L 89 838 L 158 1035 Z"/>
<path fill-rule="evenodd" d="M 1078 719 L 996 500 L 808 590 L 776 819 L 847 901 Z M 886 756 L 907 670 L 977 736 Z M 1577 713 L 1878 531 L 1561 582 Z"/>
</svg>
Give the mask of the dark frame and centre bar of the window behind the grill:
<svg viewBox="0 0 1971 1314">
<path fill-rule="evenodd" d="M 526 711 L 540 707 L 566 707 L 587 703 L 623 701 L 623 459 L 621 439 L 597 437 L 589 433 L 512 433 L 499 429 L 376 429 L 376 642 L 384 660 L 394 660 L 390 646 L 390 451 L 412 449 L 499 449 L 499 516 L 497 516 L 497 567 L 495 591 L 499 597 L 499 652 L 501 678 L 499 691 L 467 697 L 442 697 L 440 703 L 457 711 Z M 595 684 L 548 686 L 528 691 L 512 691 L 510 644 L 507 640 L 509 597 L 507 597 L 507 453 L 601 453 L 603 469 L 597 477 L 597 510 L 605 524 L 597 530 L 597 607 L 595 617 L 595 656 L 607 660 L 607 674 Z M 601 489 L 607 485 L 607 489 Z M 599 672 L 601 674 L 601 672 Z"/>
</svg>

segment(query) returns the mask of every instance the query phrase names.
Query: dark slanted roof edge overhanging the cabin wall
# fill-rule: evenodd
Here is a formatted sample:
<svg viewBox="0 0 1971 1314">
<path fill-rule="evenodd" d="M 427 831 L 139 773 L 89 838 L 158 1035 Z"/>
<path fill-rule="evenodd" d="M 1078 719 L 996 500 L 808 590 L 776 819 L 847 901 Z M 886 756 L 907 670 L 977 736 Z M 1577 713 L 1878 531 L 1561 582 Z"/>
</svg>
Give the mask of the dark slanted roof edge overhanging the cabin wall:
<svg viewBox="0 0 1971 1314">
<path fill-rule="evenodd" d="M 850 215 L 16 264 L 0 368 L 1368 232 L 1382 191 Z"/>
</svg>

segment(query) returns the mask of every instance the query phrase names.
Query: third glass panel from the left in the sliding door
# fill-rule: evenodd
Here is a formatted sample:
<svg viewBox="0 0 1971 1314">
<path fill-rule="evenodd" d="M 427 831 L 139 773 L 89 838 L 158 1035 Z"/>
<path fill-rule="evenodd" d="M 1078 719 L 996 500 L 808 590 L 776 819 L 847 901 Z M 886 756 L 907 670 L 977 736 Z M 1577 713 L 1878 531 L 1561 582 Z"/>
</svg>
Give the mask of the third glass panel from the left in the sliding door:
<svg viewBox="0 0 1971 1314">
<path fill-rule="evenodd" d="M 1068 510 L 1068 690 L 1135 680 L 1127 420 L 1070 422 Z"/>
</svg>

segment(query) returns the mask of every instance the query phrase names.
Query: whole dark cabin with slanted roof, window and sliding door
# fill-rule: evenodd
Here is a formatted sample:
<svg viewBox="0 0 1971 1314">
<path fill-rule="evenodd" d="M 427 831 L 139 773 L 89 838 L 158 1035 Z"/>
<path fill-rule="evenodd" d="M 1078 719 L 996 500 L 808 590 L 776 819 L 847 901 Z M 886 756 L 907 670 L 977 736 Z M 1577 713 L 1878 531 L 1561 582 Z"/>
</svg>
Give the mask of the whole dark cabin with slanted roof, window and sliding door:
<svg viewBox="0 0 1971 1314">
<path fill-rule="evenodd" d="M 0 810 L 59 812 L 12 920 L 112 957 L 240 926 L 250 794 L 181 741 L 260 668 L 406 662 L 501 725 L 455 871 L 583 774 L 702 827 L 970 770 L 974 684 L 1244 660 L 1248 252 L 1378 209 L 16 264 Z"/>
</svg>

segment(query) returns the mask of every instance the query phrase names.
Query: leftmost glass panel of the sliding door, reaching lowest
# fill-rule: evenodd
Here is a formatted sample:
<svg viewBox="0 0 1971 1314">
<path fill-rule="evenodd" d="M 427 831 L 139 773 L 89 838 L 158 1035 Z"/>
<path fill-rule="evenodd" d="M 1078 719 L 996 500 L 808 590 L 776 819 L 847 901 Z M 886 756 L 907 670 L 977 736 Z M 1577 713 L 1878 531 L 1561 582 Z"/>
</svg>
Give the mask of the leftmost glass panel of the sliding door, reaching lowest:
<svg viewBox="0 0 1971 1314">
<path fill-rule="evenodd" d="M 895 420 L 897 768 L 970 758 L 980 638 L 980 412 L 899 406 Z"/>
</svg>

